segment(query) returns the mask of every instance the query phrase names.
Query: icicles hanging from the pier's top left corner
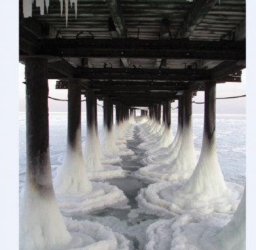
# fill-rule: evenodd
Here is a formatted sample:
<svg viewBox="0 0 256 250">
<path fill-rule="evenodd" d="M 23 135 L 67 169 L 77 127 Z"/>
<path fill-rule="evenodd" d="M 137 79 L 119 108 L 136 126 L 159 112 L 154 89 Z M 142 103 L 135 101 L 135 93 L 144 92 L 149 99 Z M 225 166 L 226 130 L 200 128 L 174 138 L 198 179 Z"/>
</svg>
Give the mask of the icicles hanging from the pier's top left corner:
<svg viewBox="0 0 256 250">
<path fill-rule="evenodd" d="M 44 5 L 46 7 L 47 13 L 49 8 L 50 0 L 36 0 L 36 7 L 40 7 L 40 14 L 44 15 Z M 68 25 L 68 0 L 65 1 L 65 17 L 66 17 L 66 26 Z M 24 17 L 32 17 L 32 5 L 34 0 L 23 0 L 23 15 Z M 75 6 L 75 13 L 77 17 L 77 0 L 70 0 L 70 6 Z M 63 0 L 60 0 L 60 13 L 62 17 L 63 13 Z"/>
</svg>

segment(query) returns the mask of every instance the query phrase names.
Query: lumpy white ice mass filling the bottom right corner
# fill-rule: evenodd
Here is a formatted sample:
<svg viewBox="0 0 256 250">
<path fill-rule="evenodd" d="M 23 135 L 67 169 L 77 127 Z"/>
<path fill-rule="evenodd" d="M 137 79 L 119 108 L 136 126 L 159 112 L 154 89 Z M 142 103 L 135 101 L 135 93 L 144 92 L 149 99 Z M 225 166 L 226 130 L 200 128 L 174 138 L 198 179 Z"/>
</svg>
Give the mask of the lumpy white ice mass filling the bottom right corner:
<svg viewBox="0 0 256 250">
<path fill-rule="evenodd" d="M 245 250 L 245 191 L 235 214 L 188 213 L 159 220 L 146 231 L 145 250 Z"/>
</svg>

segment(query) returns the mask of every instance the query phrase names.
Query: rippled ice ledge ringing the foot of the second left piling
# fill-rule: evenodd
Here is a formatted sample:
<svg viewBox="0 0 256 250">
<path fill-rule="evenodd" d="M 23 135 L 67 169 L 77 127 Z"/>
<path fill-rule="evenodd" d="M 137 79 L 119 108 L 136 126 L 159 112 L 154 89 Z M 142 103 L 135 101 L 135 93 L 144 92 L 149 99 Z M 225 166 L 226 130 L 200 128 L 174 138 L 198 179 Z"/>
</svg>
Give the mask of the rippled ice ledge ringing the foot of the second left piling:
<svg viewBox="0 0 256 250">
<path fill-rule="evenodd" d="M 128 199 L 118 187 L 102 182 L 91 182 L 88 194 L 58 194 L 56 196 L 62 214 L 66 216 L 89 214 L 103 208 L 129 208 Z"/>
</svg>

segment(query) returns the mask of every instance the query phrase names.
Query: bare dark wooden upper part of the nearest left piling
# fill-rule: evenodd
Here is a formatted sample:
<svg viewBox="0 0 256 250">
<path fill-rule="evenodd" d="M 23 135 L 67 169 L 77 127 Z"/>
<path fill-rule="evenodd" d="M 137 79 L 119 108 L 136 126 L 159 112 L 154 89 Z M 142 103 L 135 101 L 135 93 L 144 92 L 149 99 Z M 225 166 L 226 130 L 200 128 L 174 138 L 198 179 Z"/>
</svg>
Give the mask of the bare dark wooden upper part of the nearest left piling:
<svg viewBox="0 0 256 250">
<path fill-rule="evenodd" d="M 26 59 L 27 180 L 42 196 L 54 194 L 49 155 L 47 60 Z"/>
</svg>

